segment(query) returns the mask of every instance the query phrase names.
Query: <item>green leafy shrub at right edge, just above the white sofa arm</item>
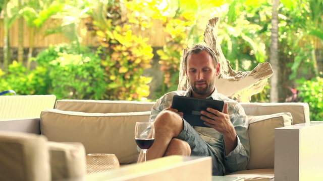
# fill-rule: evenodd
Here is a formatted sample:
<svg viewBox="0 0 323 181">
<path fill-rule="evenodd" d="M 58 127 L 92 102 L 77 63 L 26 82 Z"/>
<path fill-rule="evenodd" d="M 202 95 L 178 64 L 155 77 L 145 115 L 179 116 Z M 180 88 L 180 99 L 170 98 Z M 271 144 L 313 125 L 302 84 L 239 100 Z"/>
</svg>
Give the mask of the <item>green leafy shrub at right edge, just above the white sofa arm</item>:
<svg viewBox="0 0 323 181">
<path fill-rule="evenodd" d="M 300 86 L 298 97 L 301 102 L 308 103 L 311 121 L 323 121 L 323 78 L 315 77 L 311 80 L 298 80 Z"/>
</svg>

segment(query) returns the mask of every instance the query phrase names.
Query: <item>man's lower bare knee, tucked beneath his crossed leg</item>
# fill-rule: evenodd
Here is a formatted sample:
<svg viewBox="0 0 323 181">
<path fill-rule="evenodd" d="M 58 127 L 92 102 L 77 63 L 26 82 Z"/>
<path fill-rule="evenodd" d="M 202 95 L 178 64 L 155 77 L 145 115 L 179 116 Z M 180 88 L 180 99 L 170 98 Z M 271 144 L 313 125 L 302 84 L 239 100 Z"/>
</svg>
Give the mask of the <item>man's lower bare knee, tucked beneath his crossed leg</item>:
<svg viewBox="0 0 323 181">
<path fill-rule="evenodd" d="M 165 152 L 165 156 L 169 156 L 169 155 L 190 156 L 191 147 L 186 141 L 173 138 L 169 143 L 168 148 Z"/>
</svg>

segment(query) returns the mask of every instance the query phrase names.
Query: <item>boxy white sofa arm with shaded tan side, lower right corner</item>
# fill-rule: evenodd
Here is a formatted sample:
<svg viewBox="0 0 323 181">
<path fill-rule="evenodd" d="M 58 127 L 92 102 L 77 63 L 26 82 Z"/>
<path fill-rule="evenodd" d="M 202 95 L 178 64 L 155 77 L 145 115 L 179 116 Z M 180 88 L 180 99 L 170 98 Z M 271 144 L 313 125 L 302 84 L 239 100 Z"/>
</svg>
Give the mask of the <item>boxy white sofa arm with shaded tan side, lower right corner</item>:
<svg viewBox="0 0 323 181">
<path fill-rule="evenodd" d="M 323 121 L 275 129 L 275 180 L 323 180 Z"/>
</svg>

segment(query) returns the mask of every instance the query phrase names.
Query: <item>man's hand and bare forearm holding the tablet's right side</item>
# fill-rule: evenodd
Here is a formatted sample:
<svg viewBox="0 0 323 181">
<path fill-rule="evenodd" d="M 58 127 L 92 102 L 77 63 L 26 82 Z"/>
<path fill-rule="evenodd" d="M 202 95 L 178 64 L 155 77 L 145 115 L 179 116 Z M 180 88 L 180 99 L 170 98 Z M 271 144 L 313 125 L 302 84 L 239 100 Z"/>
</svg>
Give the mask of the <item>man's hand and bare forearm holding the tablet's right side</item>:
<svg viewBox="0 0 323 181">
<path fill-rule="evenodd" d="M 214 128 L 223 134 L 226 154 L 228 155 L 238 144 L 236 130 L 234 129 L 228 114 L 228 103 L 224 105 L 223 113 L 218 110 L 207 108 L 206 111 L 201 111 L 201 115 L 201 120 L 204 121 L 205 125 Z"/>
</svg>

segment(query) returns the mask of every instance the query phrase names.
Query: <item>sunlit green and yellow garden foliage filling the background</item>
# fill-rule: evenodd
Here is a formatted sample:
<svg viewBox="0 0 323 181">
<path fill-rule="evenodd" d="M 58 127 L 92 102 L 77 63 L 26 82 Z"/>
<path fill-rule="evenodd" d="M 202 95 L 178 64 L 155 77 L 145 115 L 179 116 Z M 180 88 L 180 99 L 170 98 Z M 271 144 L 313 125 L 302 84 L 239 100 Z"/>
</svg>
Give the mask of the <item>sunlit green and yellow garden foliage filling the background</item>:
<svg viewBox="0 0 323 181">
<path fill-rule="evenodd" d="M 62 25 L 50 33 L 63 33 L 71 44 L 53 45 L 27 62 L 4 58 L 0 91 L 15 89 L 19 95 L 55 94 L 58 99 L 107 99 L 155 101 L 177 88 L 182 50 L 201 43 L 210 18 L 220 17 L 219 41 L 235 70 L 250 71 L 270 58 L 272 2 L 264 0 L 6 0 L 0 1 L 5 29 L 19 18 L 32 33 L 51 16 Z M 280 102 L 307 102 L 311 119 L 323 120 L 323 2 L 282 0 L 279 6 L 279 98 Z M 1 12 L 1 11 L 0 11 Z M 3 11 L 4 12 L 4 11 Z M 87 27 L 99 40 L 98 47 L 81 46 L 79 23 L 88 16 Z M 152 47 L 134 32 L 153 22 L 163 25 L 165 44 Z M 9 35 L 7 35 L 9 36 Z M 153 53 L 153 48 L 156 50 Z M 9 48 L 10 49 L 10 48 Z M 8 51 L 4 47 L 4 54 Z M 145 70 L 158 67 L 163 80 L 151 92 L 154 78 Z M 30 68 L 30 62 L 37 62 Z M 251 102 L 269 102 L 270 84 Z"/>
</svg>

